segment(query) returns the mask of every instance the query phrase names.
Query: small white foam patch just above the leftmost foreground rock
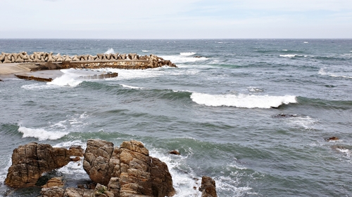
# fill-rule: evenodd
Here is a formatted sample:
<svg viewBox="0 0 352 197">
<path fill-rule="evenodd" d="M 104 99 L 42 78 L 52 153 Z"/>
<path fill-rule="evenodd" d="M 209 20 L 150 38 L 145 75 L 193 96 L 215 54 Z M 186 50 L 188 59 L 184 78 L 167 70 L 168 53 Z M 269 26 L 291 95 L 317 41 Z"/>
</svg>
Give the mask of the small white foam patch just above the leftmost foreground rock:
<svg viewBox="0 0 352 197">
<path fill-rule="evenodd" d="M 61 137 L 68 135 L 68 132 L 55 132 L 55 131 L 46 131 L 43 128 L 18 128 L 20 133 L 23 133 L 23 137 L 35 137 L 39 141 L 43 140 L 58 140 Z"/>
</svg>

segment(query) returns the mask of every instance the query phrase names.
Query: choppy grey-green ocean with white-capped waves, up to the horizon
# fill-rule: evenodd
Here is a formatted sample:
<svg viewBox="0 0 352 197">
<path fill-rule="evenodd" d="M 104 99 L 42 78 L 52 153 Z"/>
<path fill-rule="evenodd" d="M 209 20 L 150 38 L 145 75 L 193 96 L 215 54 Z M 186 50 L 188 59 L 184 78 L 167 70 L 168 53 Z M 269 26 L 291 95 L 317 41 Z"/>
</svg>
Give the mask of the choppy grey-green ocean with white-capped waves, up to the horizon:
<svg viewBox="0 0 352 197">
<path fill-rule="evenodd" d="M 4 79 L 0 196 L 39 193 L 4 185 L 13 149 L 92 138 L 143 142 L 168 164 L 176 196 L 201 196 L 204 175 L 218 196 L 352 196 L 351 39 L 0 39 L 0 51 L 155 54 L 177 65 L 95 70 L 119 74 L 103 80 L 75 69 L 51 83 Z M 89 178 L 77 163 L 56 173 Z"/>
</svg>

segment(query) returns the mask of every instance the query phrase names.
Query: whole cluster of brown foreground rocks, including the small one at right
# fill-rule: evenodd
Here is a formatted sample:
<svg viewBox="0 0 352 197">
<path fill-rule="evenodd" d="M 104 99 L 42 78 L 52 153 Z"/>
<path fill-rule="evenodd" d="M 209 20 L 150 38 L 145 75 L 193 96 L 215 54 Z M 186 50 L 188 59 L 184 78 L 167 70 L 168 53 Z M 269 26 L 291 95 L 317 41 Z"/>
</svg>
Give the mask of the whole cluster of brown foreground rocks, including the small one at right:
<svg viewBox="0 0 352 197">
<path fill-rule="evenodd" d="M 168 166 L 149 156 L 142 142 L 122 142 L 120 147 L 104 140 L 88 140 L 85 152 L 79 146 L 53 148 L 49 144 L 30 143 L 13 151 L 13 164 L 5 183 L 14 188 L 36 186 L 44 172 L 80 161 L 92 184 L 65 188 L 64 177 L 54 177 L 42 185 L 42 197 L 143 197 L 174 196 Z M 202 197 L 217 197 L 215 181 L 203 177 Z"/>
</svg>

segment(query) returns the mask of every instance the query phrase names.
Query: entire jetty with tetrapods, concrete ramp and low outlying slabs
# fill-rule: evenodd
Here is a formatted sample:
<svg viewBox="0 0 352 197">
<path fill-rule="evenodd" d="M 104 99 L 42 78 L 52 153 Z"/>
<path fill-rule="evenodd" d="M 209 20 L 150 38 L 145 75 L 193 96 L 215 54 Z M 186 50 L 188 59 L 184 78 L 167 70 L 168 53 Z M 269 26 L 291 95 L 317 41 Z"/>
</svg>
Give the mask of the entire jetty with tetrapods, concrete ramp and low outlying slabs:
<svg viewBox="0 0 352 197">
<path fill-rule="evenodd" d="M 99 53 L 96 55 L 61 55 L 60 53 L 27 52 L 0 54 L 0 74 L 16 74 L 20 79 L 52 81 L 52 77 L 34 76 L 32 72 L 60 69 L 153 69 L 158 67 L 177 67 L 170 60 L 156 55 L 137 55 L 137 53 Z M 4 69 L 4 68 L 7 69 Z M 1 73 L 1 70 L 4 70 Z M 30 72 L 28 74 L 28 72 Z M 108 73 L 84 76 L 84 79 L 106 79 L 118 76 Z"/>
</svg>

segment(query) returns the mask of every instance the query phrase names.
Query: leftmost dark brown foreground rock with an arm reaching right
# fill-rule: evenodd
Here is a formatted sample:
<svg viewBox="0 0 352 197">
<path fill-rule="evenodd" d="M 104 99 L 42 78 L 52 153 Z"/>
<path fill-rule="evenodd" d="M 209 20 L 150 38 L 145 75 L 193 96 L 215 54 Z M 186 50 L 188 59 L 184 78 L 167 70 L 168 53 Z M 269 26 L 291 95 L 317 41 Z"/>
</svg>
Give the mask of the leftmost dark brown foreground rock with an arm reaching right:
<svg viewBox="0 0 352 197">
<path fill-rule="evenodd" d="M 42 173 L 67 165 L 71 156 L 77 156 L 76 151 L 35 142 L 20 146 L 13 150 L 5 183 L 14 188 L 35 186 Z"/>
</svg>

